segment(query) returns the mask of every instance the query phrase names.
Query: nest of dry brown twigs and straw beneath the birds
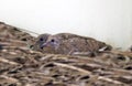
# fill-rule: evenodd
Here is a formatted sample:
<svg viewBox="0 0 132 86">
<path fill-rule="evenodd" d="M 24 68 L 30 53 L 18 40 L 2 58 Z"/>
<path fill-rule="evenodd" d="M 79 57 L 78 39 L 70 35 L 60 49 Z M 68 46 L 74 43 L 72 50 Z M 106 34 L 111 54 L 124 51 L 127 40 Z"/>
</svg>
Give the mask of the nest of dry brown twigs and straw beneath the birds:
<svg viewBox="0 0 132 86">
<path fill-rule="evenodd" d="M 132 53 L 95 57 L 30 50 L 36 37 L 0 22 L 0 86 L 132 86 Z"/>
</svg>

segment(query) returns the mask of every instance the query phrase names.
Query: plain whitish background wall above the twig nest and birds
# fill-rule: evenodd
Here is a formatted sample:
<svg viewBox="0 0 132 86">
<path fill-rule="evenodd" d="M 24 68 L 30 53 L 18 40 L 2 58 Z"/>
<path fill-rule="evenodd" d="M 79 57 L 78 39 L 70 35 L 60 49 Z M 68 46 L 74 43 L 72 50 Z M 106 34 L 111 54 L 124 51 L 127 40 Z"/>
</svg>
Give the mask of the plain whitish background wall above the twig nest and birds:
<svg viewBox="0 0 132 86">
<path fill-rule="evenodd" d="M 0 0 L 0 21 L 36 33 L 72 32 L 132 44 L 132 0 Z"/>
</svg>

